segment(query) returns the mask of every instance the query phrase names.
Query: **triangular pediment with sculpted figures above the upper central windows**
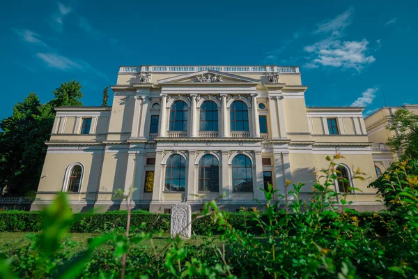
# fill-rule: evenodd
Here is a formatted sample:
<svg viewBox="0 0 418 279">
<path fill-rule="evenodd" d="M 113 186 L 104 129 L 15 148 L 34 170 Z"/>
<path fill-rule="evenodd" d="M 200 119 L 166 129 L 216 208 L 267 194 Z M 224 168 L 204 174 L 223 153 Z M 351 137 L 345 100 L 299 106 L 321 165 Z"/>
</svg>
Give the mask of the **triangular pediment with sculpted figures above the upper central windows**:
<svg viewBox="0 0 418 279">
<path fill-rule="evenodd" d="M 171 83 L 196 83 L 196 84 L 214 84 L 214 83 L 252 83 L 258 84 L 260 81 L 250 77 L 242 77 L 231 73 L 218 72 L 217 70 L 201 70 L 200 72 L 187 73 L 159 80 L 159 84 Z"/>
</svg>

